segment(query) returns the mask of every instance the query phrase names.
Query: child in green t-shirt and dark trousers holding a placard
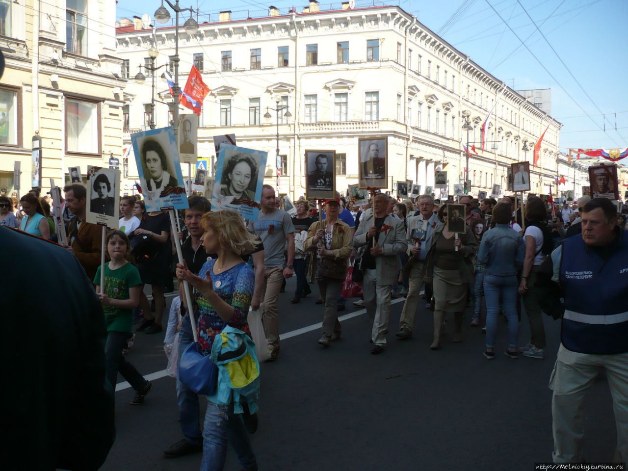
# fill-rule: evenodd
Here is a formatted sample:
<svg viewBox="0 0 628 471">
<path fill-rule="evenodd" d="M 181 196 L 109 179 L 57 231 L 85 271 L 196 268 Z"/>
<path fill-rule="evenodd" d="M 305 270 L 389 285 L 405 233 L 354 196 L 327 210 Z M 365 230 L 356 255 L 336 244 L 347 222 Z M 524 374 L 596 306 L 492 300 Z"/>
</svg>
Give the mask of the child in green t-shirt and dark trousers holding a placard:
<svg viewBox="0 0 628 471">
<path fill-rule="evenodd" d="M 131 404 L 138 405 L 144 402 L 144 396 L 153 386 L 146 381 L 122 356 L 122 349 L 126 348 L 127 338 L 131 333 L 133 308 L 139 303 L 139 290 L 142 280 L 139 271 L 126 260 L 126 254 L 131 249 L 129 237 L 121 230 L 112 230 L 106 238 L 107 254 L 110 261 L 105 266 L 104 290 L 100 286 L 99 266 L 94 278 L 96 293 L 102 301 L 107 323 L 107 344 L 105 356 L 107 361 L 107 379 L 111 386 L 116 387 L 117 373 L 135 389 L 135 398 Z"/>
</svg>

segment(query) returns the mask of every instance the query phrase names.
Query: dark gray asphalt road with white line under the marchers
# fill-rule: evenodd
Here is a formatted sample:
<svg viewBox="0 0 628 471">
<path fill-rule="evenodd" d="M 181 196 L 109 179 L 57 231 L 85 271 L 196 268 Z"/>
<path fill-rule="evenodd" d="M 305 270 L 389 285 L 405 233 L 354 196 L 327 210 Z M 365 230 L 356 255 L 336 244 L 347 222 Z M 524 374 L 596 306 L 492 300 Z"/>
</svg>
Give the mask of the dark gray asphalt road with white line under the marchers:
<svg viewBox="0 0 628 471">
<path fill-rule="evenodd" d="M 547 386 L 560 322 L 544 317 L 546 359 L 511 360 L 503 354 L 507 325 L 500 320 L 495 360 L 489 361 L 482 355 L 484 334 L 468 325 L 468 310 L 461 344 L 451 342 L 450 314 L 441 349 L 430 350 L 432 321 L 425 303 L 414 337 L 396 340 L 402 300 L 391 306 L 386 351 L 371 355 L 367 315 L 349 300 L 341 314 L 362 314 L 342 321 L 341 340 L 322 349 L 318 328 L 295 332 L 321 322 L 322 306 L 314 304 L 318 290 L 313 285 L 312 295 L 293 305 L 295 283 L 289 280 L 279 299 L 279 330 L 289 338 L 283 338 L 278 360 L 261 365 L 260 423 L 251 436 L 260 470 L 504 471 L 551 462 Z M 520 345 L 529 339 L 527 318 L 522 319 Z M 144 375 L 161 371 L 162 342 L 163 334 L 138 333 L 127 358 Z M 129 405 L 133 394 L 132 389 L 116 393 L 117 438 L 102 469 L 198 469 L 200 454 L 166 459 L 161 453 L 183 438 L 175 379 L 154 380 L 142 406 Z M 590 390 L 583 415 L 587 462 L 610 461 L 616 435 L 604 377 Z M 229 450 L 225 470 L 237 469 Z"/>
</svg>

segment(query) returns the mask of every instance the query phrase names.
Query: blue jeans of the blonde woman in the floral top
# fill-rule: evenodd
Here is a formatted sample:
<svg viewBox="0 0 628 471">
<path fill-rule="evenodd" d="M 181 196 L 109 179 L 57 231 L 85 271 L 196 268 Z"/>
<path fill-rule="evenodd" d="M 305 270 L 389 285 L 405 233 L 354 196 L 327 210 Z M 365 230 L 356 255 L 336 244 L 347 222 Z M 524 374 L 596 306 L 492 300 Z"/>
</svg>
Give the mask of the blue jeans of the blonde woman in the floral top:
<svg viewBox="0 0 628 471">
<path fill-rule="evenodd" d="M 226 406 L 208 402 L 203 425 L 201 471 L 222 471 L 227 457 L 227 441 L 236 452 L 242 470 L 257 470 L 255 453 L 241 414 L 234 414 L 233 404 Z"/>
</svg>

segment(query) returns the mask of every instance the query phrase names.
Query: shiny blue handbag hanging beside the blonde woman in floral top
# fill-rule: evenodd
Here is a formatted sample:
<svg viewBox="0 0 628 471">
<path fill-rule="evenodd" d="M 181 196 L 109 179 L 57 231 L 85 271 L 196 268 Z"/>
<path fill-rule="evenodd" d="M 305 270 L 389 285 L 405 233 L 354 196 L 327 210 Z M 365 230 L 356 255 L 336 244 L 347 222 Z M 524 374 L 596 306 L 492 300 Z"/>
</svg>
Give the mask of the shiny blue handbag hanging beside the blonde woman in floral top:
<svg viewBox="0 0 628 471">
<path fill-rule="evenodd" d="M 179 364 L 179 380 L 197 394 L 210 396 L 216 392 L 218 367 L 209 355 L 198 351 L 198 342 L 185 347 Z"/>
</svg>

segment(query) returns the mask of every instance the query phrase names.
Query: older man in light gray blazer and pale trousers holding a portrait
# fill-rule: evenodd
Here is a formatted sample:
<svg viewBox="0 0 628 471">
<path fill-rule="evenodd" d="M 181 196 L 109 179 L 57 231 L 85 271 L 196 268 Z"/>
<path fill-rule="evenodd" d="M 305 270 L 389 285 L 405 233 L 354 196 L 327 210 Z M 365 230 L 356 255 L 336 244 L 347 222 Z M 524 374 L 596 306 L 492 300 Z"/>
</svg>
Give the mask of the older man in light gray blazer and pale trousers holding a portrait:
<svg viewBox="0 0 628 471">
<path fill-rule="evenodd" d="M 403 221 L 386 212 L 389 200 L 388 195 L 377 193 L 374 214 L 365 214 L 353 240 L 353 246 L 362 255 L 364 304 L 373 323 L 371 353 L 374 355 L 383 352 L 386 346 L 391 288 L 399 273 L 397 256 L 408 248 Z"/>
</svg>

